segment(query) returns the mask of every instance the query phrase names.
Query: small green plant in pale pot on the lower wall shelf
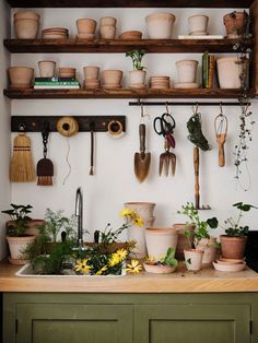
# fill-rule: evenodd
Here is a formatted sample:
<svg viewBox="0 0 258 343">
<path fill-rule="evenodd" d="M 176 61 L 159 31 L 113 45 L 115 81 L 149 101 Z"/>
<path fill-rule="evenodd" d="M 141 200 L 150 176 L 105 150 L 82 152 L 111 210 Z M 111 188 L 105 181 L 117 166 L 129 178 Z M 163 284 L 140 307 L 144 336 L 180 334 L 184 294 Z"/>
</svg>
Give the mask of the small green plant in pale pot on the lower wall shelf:
<svg viewBox="0 0 258 343">
<path fill-rule="evenodd" d="M 129 71 L 129 79 L 130 79 L 130 87 L 131 88 L 144 88 L 145 82 L 145 67 L 143 67 L 142 58 L 145 55 L 145 50 L 130 50 L 126 52 L 126 57 L 130 57 L 132 59 L 133 70 Z"/>
</svg>

